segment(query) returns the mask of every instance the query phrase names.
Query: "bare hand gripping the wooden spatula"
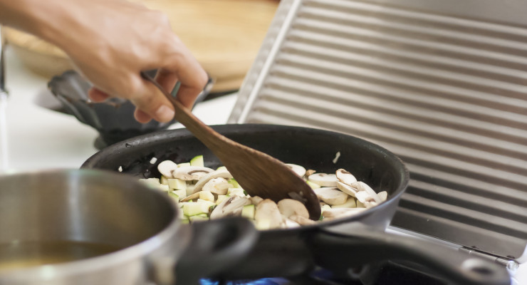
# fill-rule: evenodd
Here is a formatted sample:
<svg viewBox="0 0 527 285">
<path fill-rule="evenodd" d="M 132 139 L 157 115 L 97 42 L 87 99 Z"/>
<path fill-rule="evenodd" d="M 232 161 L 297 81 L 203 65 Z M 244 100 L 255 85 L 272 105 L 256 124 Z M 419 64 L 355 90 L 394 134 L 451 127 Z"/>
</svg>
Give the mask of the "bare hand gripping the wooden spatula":
<svg viewBox="0 0 527 285">
<path fill-rule="evenodd" d="M 170 28 L 165 14 L 125 0 L 51 0 L 60 2 L 60 23 L 47 37 L 61 47 L 95 88 L 95 102 L 109 96 L 136 105 L 135 118 L 168 122 L 174 108 L 140 71 L 158 68 L 155 80 L 170 92 L 177 81 L 178 100 L 192 107 L 207 74 Z"/>
</svg>

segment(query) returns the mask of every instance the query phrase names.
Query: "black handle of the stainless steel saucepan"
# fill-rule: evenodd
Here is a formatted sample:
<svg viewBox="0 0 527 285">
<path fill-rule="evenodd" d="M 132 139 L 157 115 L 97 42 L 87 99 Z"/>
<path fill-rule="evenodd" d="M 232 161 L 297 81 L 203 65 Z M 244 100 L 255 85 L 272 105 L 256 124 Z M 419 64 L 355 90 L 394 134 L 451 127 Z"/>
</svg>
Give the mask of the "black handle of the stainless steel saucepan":
<svg viewBox="0 0 527 285">
<path fill-rule="evenodd" d="M 198 284 L 239 262 L 256 243 L 258 231 L 241 217 L 191 224 L 192 239 L 176 265 L 176 283 Z"/>
</svg>

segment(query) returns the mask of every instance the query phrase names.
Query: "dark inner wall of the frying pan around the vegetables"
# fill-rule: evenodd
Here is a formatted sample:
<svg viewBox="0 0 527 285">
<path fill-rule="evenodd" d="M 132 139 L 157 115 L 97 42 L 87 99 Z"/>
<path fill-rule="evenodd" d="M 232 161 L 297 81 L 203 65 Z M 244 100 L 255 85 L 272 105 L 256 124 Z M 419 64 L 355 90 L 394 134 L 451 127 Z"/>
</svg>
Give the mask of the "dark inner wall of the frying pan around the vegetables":
<svg viewBox="0 0 527 285">
<path fill-rule="evenodd" d="M 375 191 L 389 196 L 402 192 L 408 180 L 405 166 L 384 148 L 350 135 L 281 125 L 219 125 L 214 130 L 231 140 L 265 152 L 286 163 L 317 172 L 350 171 Z M 333 163 L 335 155 L 339 159 Z M 221 166 L 218 158 L 187 130 L 165 130 L 125 140 L 101 150 L 82 167 L 125 172 L 135 177 L 160 177 L 157 164 L 163 160 L 188 162 L 204 155 L 205 166 Z M 157 161 L 150 163 L 155 157 Z M 266 175 L 266 173 L 262 173 Z M 272 179 L 272 177 L 269 177 Z"/>
</svg>

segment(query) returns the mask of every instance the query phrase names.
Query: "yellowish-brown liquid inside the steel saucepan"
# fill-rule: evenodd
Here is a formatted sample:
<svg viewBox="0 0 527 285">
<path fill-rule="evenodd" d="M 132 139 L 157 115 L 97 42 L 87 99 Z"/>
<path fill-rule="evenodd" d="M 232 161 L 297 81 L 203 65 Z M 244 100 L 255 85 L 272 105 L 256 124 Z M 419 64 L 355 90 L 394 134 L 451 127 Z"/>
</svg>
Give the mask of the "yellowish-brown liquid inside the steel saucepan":
<svg viewBox="0 0 527 285">
<path fill-rule="evenodd" d="M 9 244 L 0 244 L 0 271 L 98 257 L 119 249 L 121 248 L 115 245 L 90 242 L 15 241 Z"/>
</svg>

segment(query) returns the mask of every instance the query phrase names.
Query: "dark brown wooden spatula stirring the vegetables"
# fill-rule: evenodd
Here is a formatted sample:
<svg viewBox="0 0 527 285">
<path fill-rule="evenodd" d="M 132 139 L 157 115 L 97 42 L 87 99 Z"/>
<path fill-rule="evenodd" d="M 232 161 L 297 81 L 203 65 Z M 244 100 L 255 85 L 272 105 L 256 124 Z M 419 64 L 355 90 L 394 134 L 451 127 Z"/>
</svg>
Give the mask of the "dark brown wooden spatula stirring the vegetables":
<svg viewBox="0 0 527 285">
<path fill-rule="evenodd" d="M 174 118 L 219 158 L 249 195 L 272 199 L 274 202 L 291 197 L 300 198 L 306 205 L 310 218 L 314 220 L 320 218 L 320 202 L 315 192 L 291 168 L 264 152 L 246 147 L 216 133 L 152 78 L 145 73 L 142 73 L 142 77 L 167 96 L 176 110 Z"/>
</svg>

